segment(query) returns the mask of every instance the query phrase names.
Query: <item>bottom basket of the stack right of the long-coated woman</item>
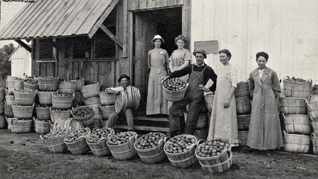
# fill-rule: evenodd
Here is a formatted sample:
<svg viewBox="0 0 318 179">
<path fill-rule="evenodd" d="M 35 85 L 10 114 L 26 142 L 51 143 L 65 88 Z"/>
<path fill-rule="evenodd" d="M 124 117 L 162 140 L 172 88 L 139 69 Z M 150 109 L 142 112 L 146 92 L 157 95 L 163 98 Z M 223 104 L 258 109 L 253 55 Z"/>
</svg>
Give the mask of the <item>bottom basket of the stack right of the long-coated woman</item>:
<svg viewBox="0 0 318 179">
<path fill-rule="evenodd" d="M 283 131 L 284 151 L 307 153 L 309 151 L 310 136 L 301 134 L 288 134 Z"/>
</svg>

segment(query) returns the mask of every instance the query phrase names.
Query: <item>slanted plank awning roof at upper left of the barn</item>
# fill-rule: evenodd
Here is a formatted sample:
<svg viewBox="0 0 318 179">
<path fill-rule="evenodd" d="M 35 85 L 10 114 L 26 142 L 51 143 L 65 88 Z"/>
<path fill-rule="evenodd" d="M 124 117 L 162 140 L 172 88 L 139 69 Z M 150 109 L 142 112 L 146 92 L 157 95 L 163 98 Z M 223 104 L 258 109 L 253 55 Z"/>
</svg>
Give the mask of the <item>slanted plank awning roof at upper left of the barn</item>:
<svg viewBox="0 0 318 179">
<path fill-rule="evenodd" d="M 0 39 L 88 35 L 99 28 L 119 0 L 36 0 L 0 30 Z"/>
</svg>

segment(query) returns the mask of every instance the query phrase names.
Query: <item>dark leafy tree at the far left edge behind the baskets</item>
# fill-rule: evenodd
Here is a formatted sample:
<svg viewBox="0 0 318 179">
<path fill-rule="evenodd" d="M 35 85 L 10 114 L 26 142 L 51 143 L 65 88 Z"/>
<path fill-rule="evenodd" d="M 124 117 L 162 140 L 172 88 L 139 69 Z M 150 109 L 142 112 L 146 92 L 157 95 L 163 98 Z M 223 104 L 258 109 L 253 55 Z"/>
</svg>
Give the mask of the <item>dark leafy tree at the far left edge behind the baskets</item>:
<svg viewBox="0 0 318 179">
<path fill-rule="evenodd" d="M 14 51 L 13 44 L 3 45 L 0 48 L 0 77 L 4 79 L 7 75 L 11 75 L 11 62 L 9 61 L 9 55 Z"/>
</svg>

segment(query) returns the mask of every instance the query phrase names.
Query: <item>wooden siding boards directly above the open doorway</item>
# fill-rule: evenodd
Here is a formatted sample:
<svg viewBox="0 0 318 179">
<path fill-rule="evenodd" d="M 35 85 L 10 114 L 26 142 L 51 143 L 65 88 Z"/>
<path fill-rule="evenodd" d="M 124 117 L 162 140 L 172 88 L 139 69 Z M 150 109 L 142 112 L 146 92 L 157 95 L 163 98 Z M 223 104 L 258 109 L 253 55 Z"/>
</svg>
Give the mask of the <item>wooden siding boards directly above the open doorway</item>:
<svg viewBox="0 0 318 179">
<path fill-rule="evenodd" d="M 128 0 L 128 10 L 153 9 L 182 4 L 183 0 Z"/>
</svg>

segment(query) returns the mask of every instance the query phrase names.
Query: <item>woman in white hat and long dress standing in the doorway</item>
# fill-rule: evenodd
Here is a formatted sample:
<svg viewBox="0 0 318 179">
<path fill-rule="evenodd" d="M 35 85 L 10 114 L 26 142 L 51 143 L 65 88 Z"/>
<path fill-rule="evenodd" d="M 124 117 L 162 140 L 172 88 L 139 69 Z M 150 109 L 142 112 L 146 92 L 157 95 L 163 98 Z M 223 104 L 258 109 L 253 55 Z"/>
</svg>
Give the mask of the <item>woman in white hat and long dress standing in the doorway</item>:
<svg viewBox="0 0 318 179">
<path fill-rule="evenodd" d="M 169 55 L 160 45 L 164 42 L 161 36 L 156 35 L 151 41 L 155 48 L 148 52 L 148 67 L 150 69 L 148 80 L 148 95 L 146 114 L 167 114 L 167 100 L 164 97 L 160 84 L 161 77 L 170 73 L 168 66 Z"/>
</svg>

